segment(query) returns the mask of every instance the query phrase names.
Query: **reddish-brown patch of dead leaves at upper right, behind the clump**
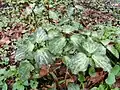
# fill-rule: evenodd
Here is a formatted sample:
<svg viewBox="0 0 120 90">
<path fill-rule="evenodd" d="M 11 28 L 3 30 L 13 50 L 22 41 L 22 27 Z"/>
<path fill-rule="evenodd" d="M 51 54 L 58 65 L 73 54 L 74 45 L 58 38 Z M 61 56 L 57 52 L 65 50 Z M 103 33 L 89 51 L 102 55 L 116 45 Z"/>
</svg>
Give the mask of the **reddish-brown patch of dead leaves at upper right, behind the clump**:
<svg viewBox="0 0 120 90">
<path fill-rule="evenodd" d="M 114 24 L 116 19 L 113 17 L 111 13 L 108 13 L 108 12 L 97 11 L 94 9 L 86 9 L 82 13 L 81 23 L 83 24 L 84 27 L 88 29 L 92 25 L 106 23 L 109 21 L 112 21 Z"/>
</svg>

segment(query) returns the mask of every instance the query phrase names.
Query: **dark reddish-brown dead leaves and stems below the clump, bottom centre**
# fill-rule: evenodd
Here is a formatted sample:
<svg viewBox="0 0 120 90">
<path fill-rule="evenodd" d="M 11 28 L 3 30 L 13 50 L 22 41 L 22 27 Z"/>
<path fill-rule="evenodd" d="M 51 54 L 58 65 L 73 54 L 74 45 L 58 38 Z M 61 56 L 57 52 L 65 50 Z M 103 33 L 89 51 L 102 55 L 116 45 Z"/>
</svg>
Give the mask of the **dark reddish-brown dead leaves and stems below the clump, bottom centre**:
<svg viewBox="0 0 120 90">
<path fill-rule="evenodd" d="M 60 59 L 56 60 L 50 67 L 43 65 L 39 74 L 39 83 L 42 81 L 42 83 L 40 83 L 40 88 L 44 90 L 53 87 L 56 87 L 57 90 L 62 90 L 67 87 L 68 83 L 77 81 L 77 77 L 71 74 Z M 45 83 L 43 84 L 43 82 Z"/>
</svg>

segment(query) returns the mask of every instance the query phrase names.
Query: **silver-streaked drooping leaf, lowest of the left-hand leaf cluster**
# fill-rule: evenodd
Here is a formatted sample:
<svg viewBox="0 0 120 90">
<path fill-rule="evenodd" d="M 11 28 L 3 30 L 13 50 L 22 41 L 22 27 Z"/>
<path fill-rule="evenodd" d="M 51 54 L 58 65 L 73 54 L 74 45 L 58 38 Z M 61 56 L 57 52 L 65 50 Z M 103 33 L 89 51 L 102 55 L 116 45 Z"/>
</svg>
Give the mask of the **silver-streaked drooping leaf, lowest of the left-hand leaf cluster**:
<svg viewBox="0 0 120 90">
<path fill-rule="evenodd" d="M 39 67 L 41 67 L 43 64 L 50 64 L 53 62 L 52 55 L 46 48 L 37 50 L 34 58 Z"/>
</svg>

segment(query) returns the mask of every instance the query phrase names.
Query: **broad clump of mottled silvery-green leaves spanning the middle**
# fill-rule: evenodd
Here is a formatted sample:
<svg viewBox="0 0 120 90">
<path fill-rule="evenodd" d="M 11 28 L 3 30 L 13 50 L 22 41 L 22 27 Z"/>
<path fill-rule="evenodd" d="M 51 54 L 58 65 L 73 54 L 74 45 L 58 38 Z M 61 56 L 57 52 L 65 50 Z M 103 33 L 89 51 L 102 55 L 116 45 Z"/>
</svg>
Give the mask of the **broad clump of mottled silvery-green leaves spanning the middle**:
<svg viewBox="0 0 120 90">
<path fill-rule="evenodd" d="M 106 52 L 119 58 L 120 28 L 97 25 L 93 30 L 83 31 L 80 24 L 76 28 L 74 23 L 51 28 L 46 25 L 26 35 L 17 43 L 16 61 L 41 68 L 61 58 L 73 74 L 85 72 L 89 66 L 110 72 L 112 62 Z"/>
</svg>

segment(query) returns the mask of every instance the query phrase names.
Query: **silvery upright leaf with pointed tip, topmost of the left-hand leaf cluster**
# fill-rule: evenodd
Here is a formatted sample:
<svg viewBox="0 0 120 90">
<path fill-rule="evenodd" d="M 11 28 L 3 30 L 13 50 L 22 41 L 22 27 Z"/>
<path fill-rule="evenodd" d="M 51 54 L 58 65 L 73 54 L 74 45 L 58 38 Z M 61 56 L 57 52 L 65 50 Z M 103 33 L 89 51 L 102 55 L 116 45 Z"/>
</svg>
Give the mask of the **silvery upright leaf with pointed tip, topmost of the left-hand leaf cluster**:
<svg viewBox="0 0 120 90">
<path fill-rule="evenodd" d="M 48 36 L 46 34 L 46 32 L 40 27 L 36 30 L 35 32 L 35 42 L 37 43 L 41 43 L 43 41 L 46 41 L 48 39 Z"/>
</svg>

